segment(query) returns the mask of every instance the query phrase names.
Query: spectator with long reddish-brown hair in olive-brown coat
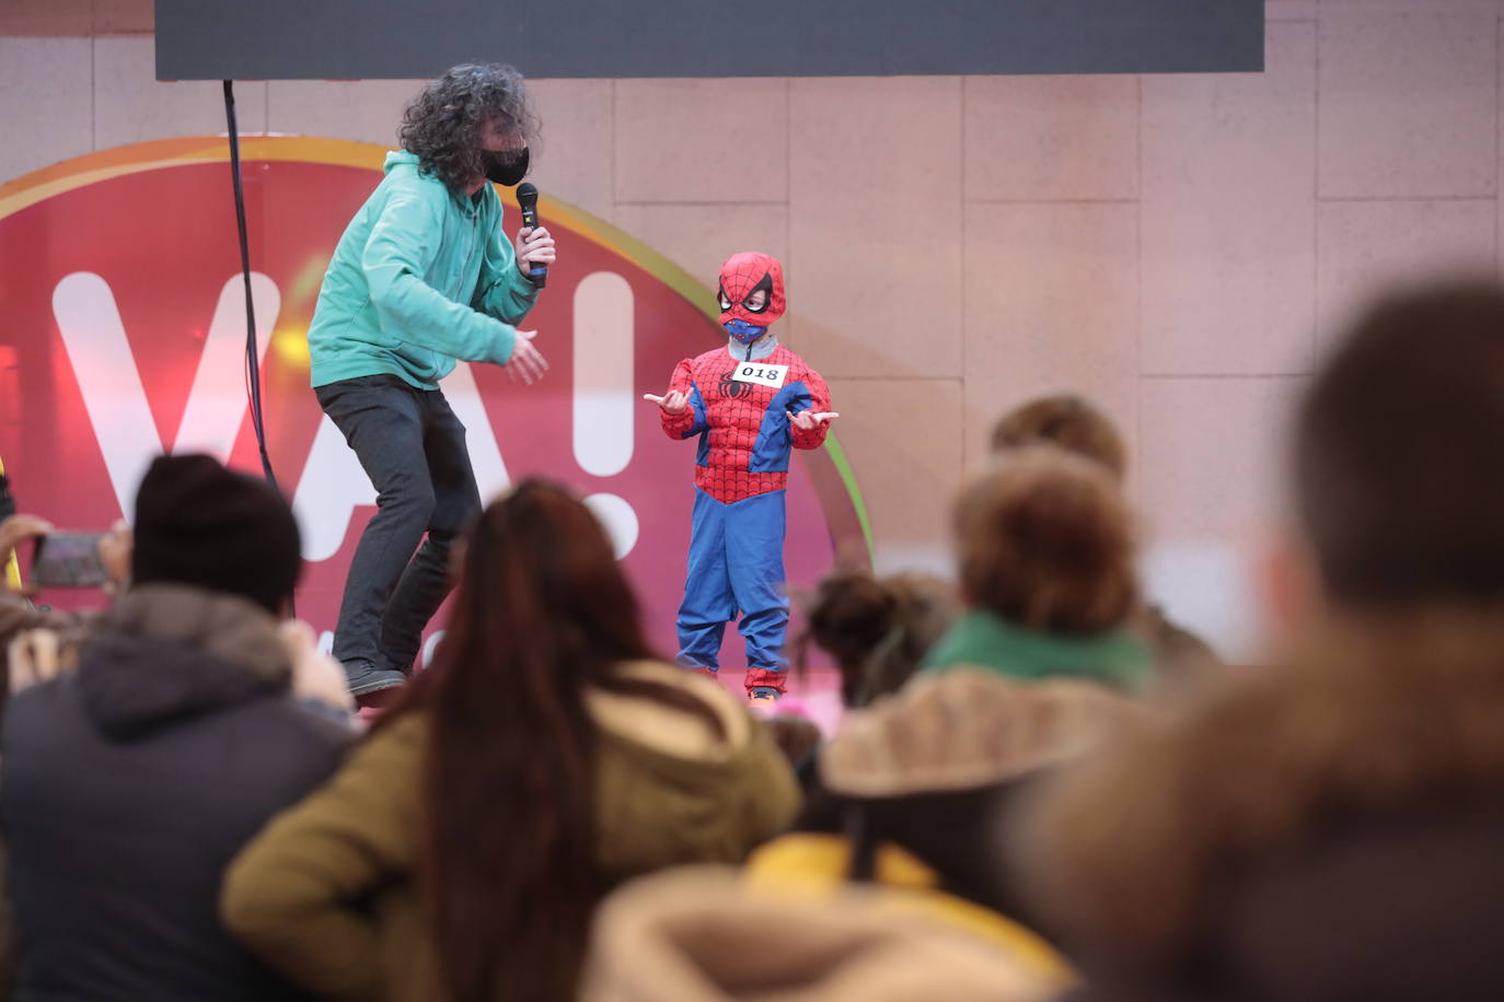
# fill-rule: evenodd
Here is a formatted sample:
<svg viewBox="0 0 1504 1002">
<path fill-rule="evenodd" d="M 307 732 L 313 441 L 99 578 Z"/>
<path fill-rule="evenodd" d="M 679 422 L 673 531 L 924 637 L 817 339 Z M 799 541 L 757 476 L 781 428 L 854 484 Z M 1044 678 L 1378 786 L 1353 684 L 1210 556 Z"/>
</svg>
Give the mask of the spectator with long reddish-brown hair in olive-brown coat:
<svg viewBox="0 0 1504 1002">
<path fill-rule="evenodd" d="M 562 1002 L 608 889 L 740 862 L 796 810 L 766 726 L 651 658 L 605 529 L 529 481 L 469 536 L 433 667 L 247 847 L 223 907 L 319 994 Z"/>
</svg>

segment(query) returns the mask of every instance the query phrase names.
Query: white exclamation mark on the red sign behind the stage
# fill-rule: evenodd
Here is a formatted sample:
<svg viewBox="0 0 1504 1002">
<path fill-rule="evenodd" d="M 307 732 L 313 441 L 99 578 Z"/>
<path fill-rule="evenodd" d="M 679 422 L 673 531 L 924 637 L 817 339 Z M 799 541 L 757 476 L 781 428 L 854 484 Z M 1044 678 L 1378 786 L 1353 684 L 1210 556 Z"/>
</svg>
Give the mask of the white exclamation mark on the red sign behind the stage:
<svg viewBox="0 0 1504 1002">
<path fill-rule="evenodd" d="M 591 476 L 615 476 L 632 461 L 635 358 L 632 285 L 615 272 L 575 288 L 575 461 Z M 585 499 L 605 523 L 617 559 L 638 542 L 638 515 L 617 494 Z"/>
</svg>

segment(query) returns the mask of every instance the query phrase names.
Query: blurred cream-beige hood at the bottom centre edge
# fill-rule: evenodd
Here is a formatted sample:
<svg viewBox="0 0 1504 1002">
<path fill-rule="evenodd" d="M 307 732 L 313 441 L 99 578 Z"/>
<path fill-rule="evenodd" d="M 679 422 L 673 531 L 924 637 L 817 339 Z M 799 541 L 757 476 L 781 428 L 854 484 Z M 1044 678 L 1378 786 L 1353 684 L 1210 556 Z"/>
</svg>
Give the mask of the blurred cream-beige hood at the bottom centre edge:
<svg viewBox="0 0 1504 1002">
<path fill-rule="evenodd" d="M 896 913 L 881 895 L 749 889 L 686 867 L 627 885 L 596 918 L 584 1002 L 1044 1002 L 1062 978 L 1027 949 Z"/>
</svg>

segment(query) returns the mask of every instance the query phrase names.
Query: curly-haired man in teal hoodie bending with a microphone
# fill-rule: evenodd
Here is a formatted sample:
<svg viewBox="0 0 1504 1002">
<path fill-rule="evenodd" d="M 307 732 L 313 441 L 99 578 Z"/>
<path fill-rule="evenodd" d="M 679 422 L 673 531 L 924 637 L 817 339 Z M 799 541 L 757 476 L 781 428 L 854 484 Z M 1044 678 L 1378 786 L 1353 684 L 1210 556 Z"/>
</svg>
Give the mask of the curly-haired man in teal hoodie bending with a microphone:
<svg viewBox="0 0 1504 1002">
<path fill-rule="evenodd" d="M 323 276 L 308 326 L 313 386 L 376 488 L 334 632 L 356 696 L 406 681 L 450 590 L 450 547 L 481 506 L 465 425 L 439 380 L 456 361 L 495 362 L 523 383 L 547 368 L 537 332 L 514 324 L 538 294 L 528 270 L 555 260 L 553 239 L 540 227 L 508 242 L 492 188 L 522 180 L 535 132 L 510 66 L 456 66 L 430 83 Z"/>
</svg>

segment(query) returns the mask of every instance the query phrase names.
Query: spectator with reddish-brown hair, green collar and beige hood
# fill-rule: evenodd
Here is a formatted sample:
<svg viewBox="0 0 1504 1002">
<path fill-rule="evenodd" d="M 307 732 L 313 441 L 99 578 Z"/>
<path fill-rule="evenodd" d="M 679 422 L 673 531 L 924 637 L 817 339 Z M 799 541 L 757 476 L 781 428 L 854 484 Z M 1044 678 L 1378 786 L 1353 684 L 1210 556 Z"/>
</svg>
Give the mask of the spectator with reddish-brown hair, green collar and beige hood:
<svg viewBox="0 0 1504 1002">
<path fill-rule="evenodd" d="M 970 611 L 937 647 L 943 670 L 847 717 L 797 832 L 750 871 L 901 888 L 1008 943 L 1032 925 L 997 849 L 1017 793 L 1128 727 L 1151 662 L 1126 631 L 1128 514 L 1095 463 L 1047 446 L 1002 457 L 963 491 L 955 533 Z"/>
</svg>

